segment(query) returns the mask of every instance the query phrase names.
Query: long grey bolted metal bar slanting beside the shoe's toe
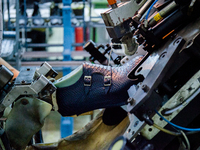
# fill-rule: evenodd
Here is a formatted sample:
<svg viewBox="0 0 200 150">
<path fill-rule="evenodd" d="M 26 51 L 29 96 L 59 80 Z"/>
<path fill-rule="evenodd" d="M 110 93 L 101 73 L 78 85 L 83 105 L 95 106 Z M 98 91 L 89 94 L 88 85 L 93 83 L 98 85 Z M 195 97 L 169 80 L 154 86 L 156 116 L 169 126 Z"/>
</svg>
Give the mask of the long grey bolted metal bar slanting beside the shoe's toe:
<svg viewBox="0 0 200 150">
<path fill-rule="evenodd" d="M 160 84 L 164 74 L 166 74 L 170 66 L 173 64 L 173 59 L 176 58 L 176 55 L 182 48 L 183 44 L 184 40 L 179 37 L 171 42 L 166 49 L 164 48 L 164 50 L 160 50 L 162 53 L 159 61 L 154 65 L 149 75 L 143 81 L 142 85 L 133 97 L 135 99 L 135 103 L 133 105 L 128 105 L 128 110 L 131 113 L 133 113 L 139 106 L 149 99 L 154 89 Z M 143 90 L 142 87 L 144 86 L 148 87 L 147 91 Z"/>
</svg>

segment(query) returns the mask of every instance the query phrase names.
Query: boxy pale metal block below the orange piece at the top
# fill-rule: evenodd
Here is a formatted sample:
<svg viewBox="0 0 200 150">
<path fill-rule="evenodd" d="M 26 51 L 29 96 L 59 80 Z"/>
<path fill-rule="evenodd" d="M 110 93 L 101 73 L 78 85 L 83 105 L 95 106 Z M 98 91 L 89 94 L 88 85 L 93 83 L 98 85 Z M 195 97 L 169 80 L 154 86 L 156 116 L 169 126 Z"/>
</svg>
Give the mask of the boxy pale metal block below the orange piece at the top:
<svg viewBox="0 0 200 150">
<path fill-rule="evenodd" d="M 129 25 L 131 18 L 145 2 L 146 0 L 142 0 L 139 4 L 136 0 L 121 2 L 117 8 L 102 13 L 101 16 L 109 36 L 116 39 L 130 32 L 132 30 Z"/>
</svg>

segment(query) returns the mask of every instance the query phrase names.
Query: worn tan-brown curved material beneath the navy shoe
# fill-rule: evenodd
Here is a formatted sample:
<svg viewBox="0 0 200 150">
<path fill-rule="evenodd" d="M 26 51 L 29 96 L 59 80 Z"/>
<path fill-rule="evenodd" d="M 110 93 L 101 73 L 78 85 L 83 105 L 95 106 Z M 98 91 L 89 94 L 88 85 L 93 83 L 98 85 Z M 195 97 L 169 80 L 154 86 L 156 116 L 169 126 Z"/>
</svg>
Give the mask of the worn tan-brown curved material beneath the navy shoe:
<svg viewBox="0 0 200 150">
<path fill-rule="evenodd" d="M 46 144 L 46 146 L 38 144 L 28 147 L 27 150 L 106 150 L 115 138 L 125 132 L 130 122 L 126 117 L 118 125 L 108 126 L 103 123 L 102 115 L 103 112 L 84 128 L 61 139 L 58 143 Z"/>
</svg>

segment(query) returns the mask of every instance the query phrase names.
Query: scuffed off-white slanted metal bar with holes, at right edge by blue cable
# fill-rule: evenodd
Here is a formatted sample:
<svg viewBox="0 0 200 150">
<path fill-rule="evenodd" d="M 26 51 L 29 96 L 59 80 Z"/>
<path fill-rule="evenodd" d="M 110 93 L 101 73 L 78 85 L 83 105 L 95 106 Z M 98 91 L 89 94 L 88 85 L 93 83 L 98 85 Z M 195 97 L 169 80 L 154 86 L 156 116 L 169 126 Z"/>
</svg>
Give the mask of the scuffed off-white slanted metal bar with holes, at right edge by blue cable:
<svg viewBox="0 0 200 150">
<path fill-rule="evenodd" d="M 200 71 L 198 71 L 168 102 L 166 102 L 159 113 L 171 121 L 181 110 L 183 110 L 193 98 L 200 92 Z M 160 117 L 155 114 L 152 117 L 154 123 L 160 127 L 165 127 L 167 122 L 160 120 Z M 151 132 L 149 132 L 151 128 Z M 153 126 L 146 125 L 141 133 L 147 139 L 152 139 L 160 130 Z"/>
</svg>

